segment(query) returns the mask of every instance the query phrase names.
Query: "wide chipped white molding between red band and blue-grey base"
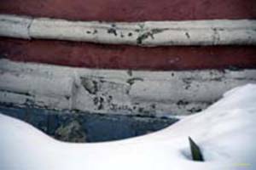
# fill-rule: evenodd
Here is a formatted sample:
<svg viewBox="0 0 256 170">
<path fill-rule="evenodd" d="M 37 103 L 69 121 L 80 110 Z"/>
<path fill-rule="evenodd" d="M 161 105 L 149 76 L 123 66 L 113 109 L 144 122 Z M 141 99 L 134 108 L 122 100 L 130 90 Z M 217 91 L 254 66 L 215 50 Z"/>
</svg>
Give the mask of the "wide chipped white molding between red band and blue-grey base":
<svg viewBox="0 0 256 170">
<path fill-rule="evenodd" d="M 142 116 L 189 115 L 256 82 L 255 70 L 115 71 L 7 59 L 0 71 L 2 103 Z"/>
</svg>

